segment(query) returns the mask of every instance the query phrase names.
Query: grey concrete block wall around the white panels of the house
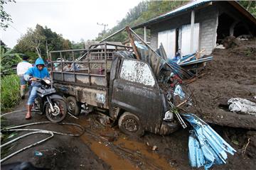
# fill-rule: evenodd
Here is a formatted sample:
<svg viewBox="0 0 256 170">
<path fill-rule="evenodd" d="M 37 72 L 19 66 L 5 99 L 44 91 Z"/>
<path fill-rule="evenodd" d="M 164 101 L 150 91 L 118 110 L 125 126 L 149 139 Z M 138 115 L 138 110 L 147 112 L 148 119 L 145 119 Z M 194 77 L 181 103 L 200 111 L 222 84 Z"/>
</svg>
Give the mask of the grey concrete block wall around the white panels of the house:
<svg viewBox="0 0 256 170">
<path fill-rule="evenodd" d="M 156 50 L 158 33 L 164 30 L 180 28 L 191 23 L 191 11 L 175 16 L 161 23 L 151 26 L 151 47 Z M 215 5 L 207 6 L 195 11 L 195 23 L 200 24 L 199 49 L 205 49 L 203 54 L 210 54 L 215 47 L 218 26 L 218 8 Z"/>
</svg>

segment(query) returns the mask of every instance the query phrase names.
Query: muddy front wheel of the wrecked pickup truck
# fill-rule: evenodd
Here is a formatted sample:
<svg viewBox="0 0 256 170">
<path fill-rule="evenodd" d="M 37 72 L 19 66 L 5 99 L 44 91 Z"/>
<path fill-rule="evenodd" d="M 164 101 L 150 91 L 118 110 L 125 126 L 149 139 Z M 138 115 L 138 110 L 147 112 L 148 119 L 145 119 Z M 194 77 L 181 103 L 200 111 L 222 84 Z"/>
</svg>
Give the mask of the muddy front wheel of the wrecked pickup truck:
<svg viewBox="0 0 256 170">
<path fill-rule="evenodd" d="M 118 126 L 119 129 L 126 135 L 140 137 L 144 134 L 142 123 L 137 115 L 129 112 L 125 112 L 120 116 L 118 120 Z"/>
</svg>

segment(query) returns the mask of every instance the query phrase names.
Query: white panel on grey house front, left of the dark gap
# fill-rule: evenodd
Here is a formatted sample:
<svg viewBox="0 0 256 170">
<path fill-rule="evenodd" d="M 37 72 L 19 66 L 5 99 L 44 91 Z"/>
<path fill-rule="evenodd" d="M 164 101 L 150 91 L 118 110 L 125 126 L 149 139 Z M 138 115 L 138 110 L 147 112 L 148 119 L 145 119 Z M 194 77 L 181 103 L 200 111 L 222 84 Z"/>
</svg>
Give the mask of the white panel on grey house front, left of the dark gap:
<svg viewBox="0 0 256 170">
<path fill-rule="evenodd" d="M 174 58 L 176 54 L 176 29 L 165 30 L 158 33 L 158 47 L 164 46 L 168 58 Z"/>
</svg>

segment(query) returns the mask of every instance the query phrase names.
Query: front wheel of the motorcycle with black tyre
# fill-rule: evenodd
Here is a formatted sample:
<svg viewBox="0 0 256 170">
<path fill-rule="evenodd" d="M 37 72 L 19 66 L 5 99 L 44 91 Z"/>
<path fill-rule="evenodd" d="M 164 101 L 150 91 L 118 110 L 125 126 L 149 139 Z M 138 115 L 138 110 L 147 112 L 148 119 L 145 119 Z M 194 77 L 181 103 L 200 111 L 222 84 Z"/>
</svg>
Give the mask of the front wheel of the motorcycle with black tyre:
<svg viewBox="0 0 256 170">
<path fill-rule="evenodd" d="M 50 109 L 50 103 L 46 104 L 46 117 L 53 123 L 61 122 L 67 115 L 67 105 L 61 99 L 52 99 L 53 110 Z"/>
</svg>

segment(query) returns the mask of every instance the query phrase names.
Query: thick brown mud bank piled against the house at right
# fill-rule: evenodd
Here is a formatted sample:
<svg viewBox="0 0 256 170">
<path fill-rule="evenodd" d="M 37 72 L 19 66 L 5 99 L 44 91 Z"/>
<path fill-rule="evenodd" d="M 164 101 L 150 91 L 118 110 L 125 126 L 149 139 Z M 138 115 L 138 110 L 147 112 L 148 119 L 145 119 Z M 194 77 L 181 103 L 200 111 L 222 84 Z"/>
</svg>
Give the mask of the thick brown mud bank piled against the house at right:
<svg viewBox="0 0 256 170">
<path fill-rule="evenodd" d="M 201 79 L 191 86 L 203 120 L 218 125 L 256 130 L 256 117 L 228 111 L 230 98 L 256 102 L 256 40 L 241 41 L 228 49 L 215 49 Z"/>
</svg>

